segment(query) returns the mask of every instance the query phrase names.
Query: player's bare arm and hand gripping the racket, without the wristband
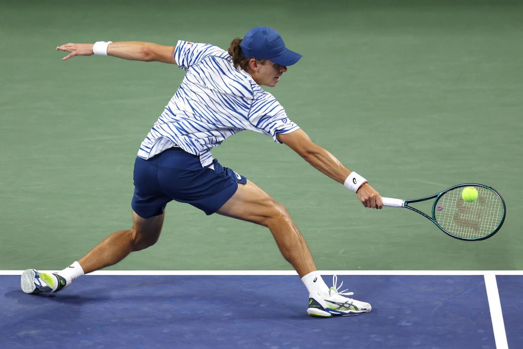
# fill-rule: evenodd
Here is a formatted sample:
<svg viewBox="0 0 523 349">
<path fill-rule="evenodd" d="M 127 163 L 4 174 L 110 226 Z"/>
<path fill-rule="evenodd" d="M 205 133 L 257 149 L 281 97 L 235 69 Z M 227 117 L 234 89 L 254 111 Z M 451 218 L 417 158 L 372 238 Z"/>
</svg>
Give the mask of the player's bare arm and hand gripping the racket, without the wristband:
<svg viewBox="0 0 523 349">
<path fill-rule="evenodd" d="M 336 182 L 344 184 L 351 173 L 336 156 L 312 142 L 309 136 L 301 129 L 290 133 L 278 134 L 277 139 L 297 152 L 305 161 L 316 168 L 316 170 L 331 177 Z M 369 184 L 361 186 L 357 195 L 365 207 L 383 207 L 380 194 Z"/>
</svg>

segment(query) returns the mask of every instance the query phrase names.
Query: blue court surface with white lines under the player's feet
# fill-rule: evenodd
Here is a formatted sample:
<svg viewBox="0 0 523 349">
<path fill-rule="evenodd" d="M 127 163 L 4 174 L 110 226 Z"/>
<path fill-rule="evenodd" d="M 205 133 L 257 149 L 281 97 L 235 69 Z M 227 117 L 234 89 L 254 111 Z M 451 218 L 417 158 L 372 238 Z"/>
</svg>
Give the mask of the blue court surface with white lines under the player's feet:
<svg viewBox="0 0 523 349">
<path fill-rule="evenodd" d="M 520 272 L 337 272 L 373 309 L 328 319 L 291 272 L 97 272 L 52 297 L 20 273 L 0 276 L 2 348 L 523 347 Z"/>
</svg>

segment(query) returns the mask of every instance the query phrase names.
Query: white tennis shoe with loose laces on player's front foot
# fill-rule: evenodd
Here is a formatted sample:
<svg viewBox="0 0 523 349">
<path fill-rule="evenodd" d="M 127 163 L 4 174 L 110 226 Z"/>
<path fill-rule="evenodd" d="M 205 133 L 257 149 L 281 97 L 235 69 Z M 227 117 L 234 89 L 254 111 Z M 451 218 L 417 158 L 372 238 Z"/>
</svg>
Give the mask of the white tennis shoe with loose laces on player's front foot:
<svg viewBox="0 0 523 349">
<path fill-rule="evenodd" d="M 332 317 L 332 316 L 351 316 L 368 313 L 372 307 L 369 303 L 361 302 L 356 299 L 344 297 L 352 296 L 353 292 L 346 292 L 348 289 L 338 291 L 339 287 L 336 285 L 338 277 L 333 276 L 333 287 L 329 289 L 329 296 L 322 297 L 319 294 L 309 295 L 309 309 L 307 312 L 313 317 Z"/>
</svg>

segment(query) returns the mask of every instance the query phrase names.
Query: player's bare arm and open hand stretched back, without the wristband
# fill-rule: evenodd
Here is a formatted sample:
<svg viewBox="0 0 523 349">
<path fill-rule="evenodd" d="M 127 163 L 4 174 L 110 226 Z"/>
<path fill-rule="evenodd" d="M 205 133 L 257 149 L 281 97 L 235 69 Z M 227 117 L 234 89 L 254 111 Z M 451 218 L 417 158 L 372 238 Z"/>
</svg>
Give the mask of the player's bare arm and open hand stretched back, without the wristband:
<svg viewBox="0 0 523 349">
<path fill-rule="evenodd" d="M 78 55 L 92 55 L 93 45 L 92 43 L 66 43 L 56 47 L 56 50 L 71 52 L 62 58 L 65 61 Z M 174 49 L 174 46 L 162 46 L 152 42 L 122 41 L 111 42 L 107 47 L 107 54 L 131 61 L 176 64 Z"/>
</svg>

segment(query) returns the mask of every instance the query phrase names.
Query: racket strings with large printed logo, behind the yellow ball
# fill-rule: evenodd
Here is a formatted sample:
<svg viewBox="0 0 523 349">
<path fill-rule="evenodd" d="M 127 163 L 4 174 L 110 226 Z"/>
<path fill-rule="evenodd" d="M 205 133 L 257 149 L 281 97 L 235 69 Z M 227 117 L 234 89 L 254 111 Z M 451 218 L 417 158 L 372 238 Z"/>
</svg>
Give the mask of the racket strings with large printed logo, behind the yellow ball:
<svg viewBox="0 0 523 349">
<path fill-rule="evenodd" d="M 463 239 L 478 239 L 493 233 L 502 222 L 505 209 L 493 190 L 474 186 L 478 197 L 473 202 L 461 197 L 462 187 L 449 190 L 435 203 L 434 217 L 441 228 Z"/>
</svg>

